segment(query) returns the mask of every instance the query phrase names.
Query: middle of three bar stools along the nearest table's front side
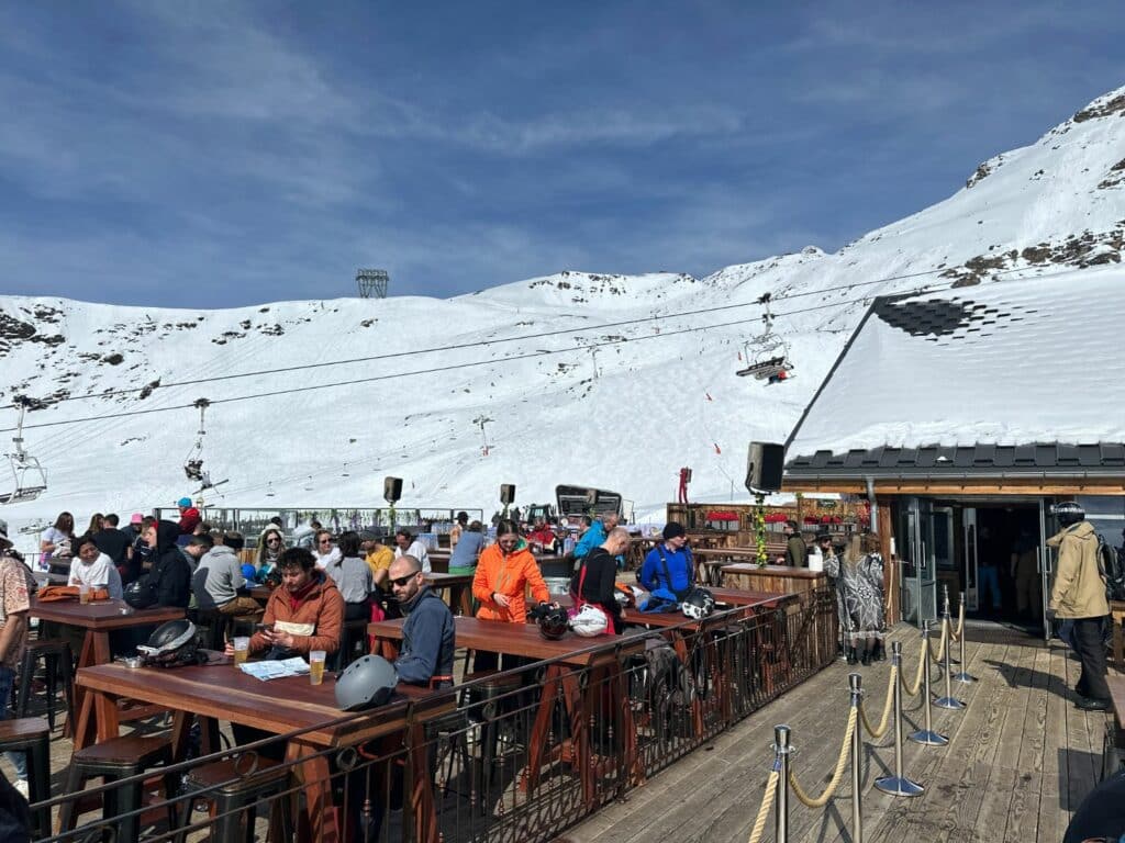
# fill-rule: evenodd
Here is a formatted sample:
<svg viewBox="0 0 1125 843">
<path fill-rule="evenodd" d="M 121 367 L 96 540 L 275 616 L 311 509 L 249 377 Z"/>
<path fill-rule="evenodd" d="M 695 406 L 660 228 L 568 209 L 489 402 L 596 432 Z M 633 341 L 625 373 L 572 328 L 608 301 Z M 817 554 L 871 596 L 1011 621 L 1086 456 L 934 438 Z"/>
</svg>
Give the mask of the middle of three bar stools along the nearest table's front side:
<svg viewBox="0 0 1125 843">
<path fill-rule="evenodd" d="M 168 733 L 159 735 L 126 735 L 111 737 L 102 743 L 96 743 L 79 750 L 71 758 L 70 771 L 66 774 L 68 794 L 75 798 L 86 788 L 89 779 L 102 777 L 106 783 L 112 783 L 140 776 L 145 770 L 172 763 L 172 738 Z M 164 796 L 172 799 L 179 788 L 174 773 L 164 776 Z M 116 787 L 102 795 L 102 819 L 115 823 L 117 840 L 137 840 L 141 823 L 140 815 L 120 816 L 137 810 L 142 805 L 142 783 L 130 783 L 128 787 Z M 176 823 L 176 806 L 169 805 L 169 824 Z M 63 804 L 58 812 L 58 825 L 62 832 L 74 827 L 74 801 Z"/>
</svg>

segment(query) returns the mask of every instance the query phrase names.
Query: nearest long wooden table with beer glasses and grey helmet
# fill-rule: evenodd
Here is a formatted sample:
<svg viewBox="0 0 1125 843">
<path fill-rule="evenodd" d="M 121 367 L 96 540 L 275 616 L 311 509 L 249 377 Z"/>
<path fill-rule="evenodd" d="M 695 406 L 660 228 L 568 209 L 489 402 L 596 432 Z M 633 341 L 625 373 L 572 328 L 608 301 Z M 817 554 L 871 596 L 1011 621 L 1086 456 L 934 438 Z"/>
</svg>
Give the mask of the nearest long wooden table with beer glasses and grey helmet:
<svg viewBox="0 0 1125 843">
<path fill-rule="evenodd" d="M 405 780 L 411 788 L 416 832 L 413 839 L 429 843 L 439 839 L 426 763 L 425 722 L 453 708 L 450 691 L 399 686 L 397 701 L 351 716 L 335 705 L 332 673 L 325 672 L 324 682 L 318 686 L 310 685 L 308 677 L 263 682 L 236 670 L 225 658 L 217 664 L 176 670 L 104 664 L 80 670 L 76 682 L 89 694 L 79 716 L 82 740 L 75 738 L 75 750 L 90 743 L 87 737 L 90 734 L 98 742 L 117 736 L 119 698 L 152 703 L 173 711 L 172 746 L 177 761 L 183 759 L 192 716 L 200 718 L 205 735 L 214 734 L 219 720 L 273 734 L 304 729 L 289 740 L 286 761 L 300 765 L 307 832 L 318 843 L 341 840 L 344 828 L 343 817 L 333 805 L 331 770 L 324 750 L 403 733 Z"/>
</svg>

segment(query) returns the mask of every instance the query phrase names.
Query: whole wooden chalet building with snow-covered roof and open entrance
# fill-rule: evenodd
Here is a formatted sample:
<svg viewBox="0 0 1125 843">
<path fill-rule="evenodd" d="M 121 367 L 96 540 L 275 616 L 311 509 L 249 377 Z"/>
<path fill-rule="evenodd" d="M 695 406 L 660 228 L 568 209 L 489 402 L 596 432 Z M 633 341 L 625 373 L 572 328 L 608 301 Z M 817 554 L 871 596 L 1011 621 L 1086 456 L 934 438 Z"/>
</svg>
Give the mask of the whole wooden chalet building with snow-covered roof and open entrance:
<svg viewBox="0 0 1125 843">
<path fill-rule="evenodd" d="M 1041 634 L 1052 504 L 1079 500 L 1122 543 L 1123 325 L 1116 268 L 875 299 L 786 443 L 784 488 L 874 505 L 901 618 L 935 617 L 944 583 L 970 617 Z M 1028 545 L 1038 588 L 1019 615 Z"/>
</svg>

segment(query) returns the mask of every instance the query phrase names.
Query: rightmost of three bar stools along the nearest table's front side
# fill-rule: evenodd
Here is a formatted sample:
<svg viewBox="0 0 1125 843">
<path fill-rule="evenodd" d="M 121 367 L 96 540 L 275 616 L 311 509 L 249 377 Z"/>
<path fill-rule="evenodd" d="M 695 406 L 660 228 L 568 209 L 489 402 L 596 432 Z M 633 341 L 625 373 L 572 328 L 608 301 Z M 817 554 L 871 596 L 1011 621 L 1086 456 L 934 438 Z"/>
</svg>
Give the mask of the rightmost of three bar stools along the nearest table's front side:
<svg viewBox="0 0 1125 843">
<path fill-rule="evenodd" d="M 279 827 L 280 840 L 292 839 L 290 814 L 281 804 L 289 787 L 289 770 L 277 761 L 261 755 L 256 765 L 250 767 L 245 755 L 215 761 L 191 769 L 183 780 L 186 797 L 177 823 L 177 843 L 183 843 L 191 826 L 191 806 L 197 797 L 210 805 L 210 840 L 253 843 L 258 804 L 273 799 L 270 830 Z M 277 837 L 274 837 L 277 840 Z"/>
</svg>

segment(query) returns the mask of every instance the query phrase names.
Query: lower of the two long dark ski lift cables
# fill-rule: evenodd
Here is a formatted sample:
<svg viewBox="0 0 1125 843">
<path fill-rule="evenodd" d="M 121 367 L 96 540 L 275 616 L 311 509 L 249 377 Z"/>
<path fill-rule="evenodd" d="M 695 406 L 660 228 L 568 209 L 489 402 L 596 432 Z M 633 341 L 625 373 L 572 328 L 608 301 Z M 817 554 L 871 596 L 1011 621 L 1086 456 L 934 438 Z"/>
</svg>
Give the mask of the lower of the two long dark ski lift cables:
<svg viewBox="0 0 1125 843">
<path fill-rule="evenodd" d="M 1022 268 L 1022 269 L 1026 270 L 1026 268 Z M 1069 271 L 1072 271 L 1072 270 L 1066 270 L 1066 271 L 1069 272 Z M 928 273 L 918 273 L 918 274 L 928 274 Z M 996 274 L 998 274 L 998 273 L 996 273 Z M 1052 274 L 1062 274 L 1062 273 L 1052 273 Z M 1041 274 L 1037 278 L 1044 278 L 1044 277 L 1045 277 L 1045 274 Z M 883 279 L 883 280 L 886 280 L 886 279 Z M 873 282 L 857 282 L 856 284 L 850 284 L 850 285 L 847 285 L 847 287 L 861 285 L 863 283 L 873 283 Z M 952 288 L 952 283 L 953 282 L 951 282 L 950 284 L 943 284 L 942 287 L 920 287 L 920 288 L 916 288 L 914 290 L 902 290 L 902 291 L 899 291 L 899 293 L 900 294 L 906 294 L 906 296 L 917 296 L 917 294 L 922 294 L 925 292 L 936 292 L 936 291 L 939 291 L 939 290 Z M 843 289 L 843 288 L 840 288 L 840 289 Z M 819 291 L 817 291 L 817 293 L 820 294 L 820 293 L 826 292 L 826 291 L 828 291 L 828 290 L 819 290 Z M 804 293 L 800 293 L 800 294 L 803 296 Z M 795 298 L 795 296 L 793 298 Z M 822 303 L 822 305 L 813 305 L 813 306 L 807 307 L 807 308 L 799 308 L 796 310 L 777 311 L 777 312 L 774 314 L 774 318 L 776 319 L 778 317 L 798 316 L 800 314 L 808 314 L 808 312 L 813 312 L 813 311 L 817 311 L 817 310 L 826 310 L 826 309 L 831 309 L 831 308 L 840 308 L 840 307 L 844 307 L 846 305 L 853 305 L 853 303 L 863 302 L 863 301 L 870 301 L 870 297 L 861 297 L 861 298 L 857 298 L 857 299 L 846 299 L 846 300 L 842 300 L 842 301 L 831 301 L 831 302 L 826 302 L 826 303 Z M 750 302 L 750 303 L 754 303 L 754 302 Z M 668 316 L 664 316 L 664 317 L 649 317 L 649 318 L 637 320 L 637 321 L 649 321 L 651 318 L 672 318 L 673 316 L 675 316 L 675 318 L 680 318 L 680 317 L 686 316 L 686 315 L 712 312 L 712 311 L 716 311 L 716 310 L 730 309 L 732 307 L 745 307 L 745 305 L 727 305 L 727 306 L 720 306 L 720 307 L 716 307 L 716 308 L 705 308 L 703 310 L 698 310 L 698 311 L 682 311 L 680 314 L 668 315 Z M 682 335 L 682 334 L 692 334 L 692 333 L 700 332 L 700 330 L 714 330 L 717 328 L 737 327 L 737 326 L 747 325 L 747 324 L 749 324 L 752 321 L 756 321 L 756 319 L 753 319 L 753 318 L 735 319 L 735 320 L 727 321 L 727 323 L 714 323 L 714 324 L 708 324 L 708 325 L 699 325 L 699 326 L 692 326 L 692 327 L 688 327 L 688 328 L 681 328 L 678 330 L 667 330 L 667 332 L 662 332 L 659 334 L 650 334 L 650 335 L 646 335 L 646 336 L 622 337 L 622 338 L 615 338 L 615 339 L 605 339 L 605 341 L 602 341 L 600 343 L 591 343 L 586 347 L 590 348 L 590 347 L 594 347 L 594 346 L 614 346 L 614 345 L 623 345 L 626 343 L 640 343 L 640 342 L 645 342 L 645 341 L 649 341 L 649 339 L 660 339 L 660 338 L 664 338 L 664 337 L 678 336 L 678 335 Z M 604 327 L 604 326 L 597 326 L 597 327 Z M 590 328 L 585 328 L 585 329 L 590 329 Z M 560 332 L 560 333 L 570 333 L 570 332 Z M 529 338 L 529 337 L 520 337 L 520 338 Z M 490 341 L 490 342 L 496 342 L 496 341 Z M 482 344 L 475 344 L 475 345 L 482 345 Z M 450 346 L 450 347 L 453 347 L 453 346 Z M 457 371 L 457 370 L 461 370 L 461 369 L 472 369 L 472 368 L 479 368 L 479 366 L 498 365 L 498 364 L 503 364 L 503 363 L 506 363 L 506 362 L 514 362 L 514 361 L 520 361 L 520 360 L 532 360 L 532 359 L 536 359 L 536 357 L 556 356 L 556 355 L 559 355 L 559 354 L 573 354 L 574 352 L 575 352 L 574 348 L 555 348 L 555 350 L 542 348 L 542 350 L 538 350 L 538 351 L 534 351 L 534 352 L 528 352 L 525 354 L 513 354 L 513 355 L 508 355 L 506 357 L 498 357 L 498 359 L 493 359 L 493 360 L 470 361 L 470 362 L 467 362 L 467 363 L 450 363 L 450 364 L 447 364 L 447 365 L 431 366 L 429 369 L 418 369 L 418 370 L 413 370 L 413 371 L 408 371 L 408 372 L 394 372 L 394 373 L 390 373 L 390 374 L 380 374 L 380 375 L 364 377 L 362 379 L 352 379 L 352 380 L 344 380 L 344 381 L 333 381 L 333 382 L 330 382 L 330 383 L 314 383 L 314 384 L 308 384 L 308 386 L 295 387 L 295 388 L 291 388 L 291 389 L 270 390 L 268 392 L 256 392 L 256 393 L 244 395 L 244 396 L 232 396 L 230 398 L 218 398 L 218 399 L 215 399 L 215 400 L 212 401 L 212 404 L 213 405 L 217 405 L 217 404 L 233 404 L 233 402 L 236 402 L 236 401 L 255 400 L 255 399 L 259 399 L 259 398 L 273 398 L 273 397 L 278 397 L 278 396 L 292 395 L 292 393 L 297 393 L 297 392 L 309 392 L 309 391 L 314 391 L 314 390 L 318 390 L 318 389 L 335 389 L 335 388 L 339 388 L 339 387 L 353 387 L 353 386 L 357 386 L 357 384 L 360 384 L 360 383 L 370 383 L 372 381 L 395 380 L 395 379 L 398 379 L 398 378 L 410 378 L 410 377 L 416 377 L 416 375 L 422 375 L 422 374 L 436 374 L 436 373 L 442 373 L 442 372 Z M 417 352 L 417 353 L 425 353 L 425 352 Z M 408 353 L 404 352 L 402 354 L 396 354 L 396 355 L 392 355 L 392 356 L 406 356 L 406 355 L 408 355 Z M 379 357 L 371 357 L 370 360 L 376 360 L 376 359 L 379 359 Z M 363 359 L 357 359 L 356 361 L 338 361 L 336 363 L 332 363 L 331 365 L 336 365 L 340 362 L 345 362 L 345 363 L 346 362 L 359 362 L 360 360 L 363 360 Z M 309 365 L 330 365 L 330 364 L 328 363 L 318 363 L 318 364 L 309 364 Z M 308 368 L 308 366 L 298 366 L 298 369 L 299 368 Z M 280 373 L 280 372 L 285 372 L 285 371 L 291 371 L 291 370 L 285 370 L 285 369 L 284 370 L 273 370 L 273 371 L 270 371 L 270 372 L 262 372 L 262 373 L 263 374 L 272 374 L 272 373 Z M 254 373 L 245 373 L 245 374 L 241 374 L 241 375 L 226 375 L 226 377 L 219 377 L 219 378 L 213 378 L 213 379 L 205 379 L 204 381 L 198 381 L 198 382 L 213 382 L 213 381 L 216 381 L 216 380 L 228 380 L 228 379 L 235 378 L 235 377 L 250 377 L 250 374 L 254 374 Z M 171 383 L 171 384 L 168 384 L 168 386 L 169 387 L 186 386 L 186 384 L 190 384 L 190 383 L 194 383 L 194 382 L 195 381 L 184 381 L 183 383 Z M 125 391 L 130 391 L 130 390 L 125 390 Z M 104 393 L 104 395 L 109 395 L 109 393 Z M 91 396 L 91 397 L 101 397 L 101 396 Z M 82 396 L 73 396 L 71 398 L 61 399 L 61 400 L 64 400 L 64 401 L 65 400 L 75 400 L 75 399 L 79 399 L 79 398 L 82 398 Z M 109 415 L 86 416 L 86 417 L 72 418 L 72 419 L 61 419 L 58 422 L 43 422 L 43 423 L 39 423 L 37 425 L 27 425 L 25 429 L 28 429 L 28 430 L 30 430 L 30 429 L 42 429 L 42 428 L 47 428 L 47 427 L 61 427 L 61 426 L 65 426 L 65 425 L 89 424 L 89 423 L 93 423 L 93 422 L 105 422 L 105 420 L 108 420 L 108 419 L 128 418 L 128 417 L 132 417 L 132 416 L 146 416 L 146 415 L 151 415 L 153 413 L 166 413 L 166 411 L 170 411 L 170 410 L 186 409 L 186 408 L 192 407 L 192 406 L 195 406 L 195 405 L 188 404 L 188 405 L 172 405 L 172 406 L 166 406 L 166 407 L 150 407 L 150 408 L 138 409 L 138 410 L 125 410 L 123 413 L 116 413 L 116 414 L 109 414 Z M 0 433 L 9 433 L 9 432 L 11 432 L 15 428 L 12 428 L 12 427 L 3 427 L 3 428 L 0 428 Z"/>
</svg>

